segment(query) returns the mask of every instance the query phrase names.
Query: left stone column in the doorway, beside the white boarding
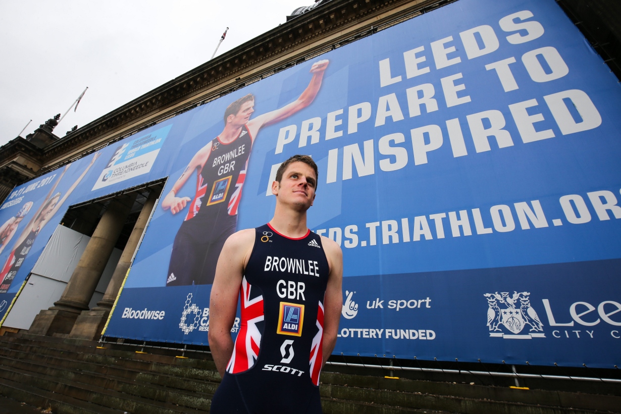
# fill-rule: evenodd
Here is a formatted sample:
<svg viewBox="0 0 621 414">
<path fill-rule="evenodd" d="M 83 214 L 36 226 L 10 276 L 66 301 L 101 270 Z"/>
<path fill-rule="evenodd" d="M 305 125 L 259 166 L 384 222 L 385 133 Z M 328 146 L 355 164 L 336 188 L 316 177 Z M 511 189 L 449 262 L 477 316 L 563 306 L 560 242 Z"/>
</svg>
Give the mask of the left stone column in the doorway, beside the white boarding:
<svg viewBox="0 0 621 414">
<path fill-rule="evenodd" d="M 106 264 L 127 215 L 134 204 L 135 194 L 113 199 L 79 259 L 65 291 L 54 306 L 39 312 L 30 325 L 29 332 L 40 335 L 67 334 L 71 332 L 76 318 L 88 304 L 99 283 Z"/>
</svg>

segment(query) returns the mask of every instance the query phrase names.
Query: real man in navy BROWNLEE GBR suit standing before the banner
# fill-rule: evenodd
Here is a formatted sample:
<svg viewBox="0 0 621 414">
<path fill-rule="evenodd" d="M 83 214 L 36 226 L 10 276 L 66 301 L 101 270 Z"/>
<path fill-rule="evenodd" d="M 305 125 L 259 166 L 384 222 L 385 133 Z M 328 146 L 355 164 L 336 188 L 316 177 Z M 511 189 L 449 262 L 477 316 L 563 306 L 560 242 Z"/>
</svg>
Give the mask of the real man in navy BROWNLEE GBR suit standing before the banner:
<svg viewBox="0 0 621 414">
<path fill-rule="evenodd" d="M 316 186 L 312 158 L 289 158 L 272 184 L 274 217 L 222 248 L 209 302 L 209 346 L 222 376 L 212 414 L 321 413 L 319 373 L 337 340 L 343 258 L 337 243 L 306 227 Z"/>
</svg>

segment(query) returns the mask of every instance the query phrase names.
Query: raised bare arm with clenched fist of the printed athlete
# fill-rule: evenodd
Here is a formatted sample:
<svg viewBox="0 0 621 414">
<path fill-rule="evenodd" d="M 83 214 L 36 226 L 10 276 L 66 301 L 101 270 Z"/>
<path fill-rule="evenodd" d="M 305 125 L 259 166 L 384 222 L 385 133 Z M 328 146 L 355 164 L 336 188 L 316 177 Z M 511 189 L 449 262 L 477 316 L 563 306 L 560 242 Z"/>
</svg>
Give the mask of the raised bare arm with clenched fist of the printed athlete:
<svg viewBox="0 0 621 414">
<path fill-rule="evenodd" d="M 258 130 L 261 127 L 274 124 L 280 120 L 290 117 L 299 110 L 302 110 L 309 106 L 314 101 L 319 88 L 321 87 L 322 79 L 324 78 L 324 71 L 328 67 L 328 60 L 320 60 L 313 63 L 311 67 L 311 73 L 313 74 L 311 83 L 304 89 L 304 92 L 291 104 L 285 105 L 282 108 L 273 110 L 263 115 L 259 115 L 255 119 L 248 121 L 248 128 L 253 137 L 256 136 Z"/>
</svg>

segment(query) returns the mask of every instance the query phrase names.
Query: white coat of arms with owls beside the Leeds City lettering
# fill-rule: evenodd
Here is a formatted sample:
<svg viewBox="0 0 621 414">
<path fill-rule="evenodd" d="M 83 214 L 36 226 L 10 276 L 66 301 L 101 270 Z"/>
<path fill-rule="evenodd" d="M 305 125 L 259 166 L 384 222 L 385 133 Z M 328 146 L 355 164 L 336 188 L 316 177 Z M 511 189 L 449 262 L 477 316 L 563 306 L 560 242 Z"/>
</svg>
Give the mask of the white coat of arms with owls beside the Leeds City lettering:
<svg viewBox="0 0 621 414">
<path fill-rule="evenodd" d="M 489 336 L 521 340 L 545 338 L 543 323 L 530 305 L 529 296 L 529 292 L 515 291 L 512 296 L 509 296 L 509 292 L 484 294 L 489 306 L 487 309 Z M 528 330 L 524 331 L 527 326 Z"/>
</svg>

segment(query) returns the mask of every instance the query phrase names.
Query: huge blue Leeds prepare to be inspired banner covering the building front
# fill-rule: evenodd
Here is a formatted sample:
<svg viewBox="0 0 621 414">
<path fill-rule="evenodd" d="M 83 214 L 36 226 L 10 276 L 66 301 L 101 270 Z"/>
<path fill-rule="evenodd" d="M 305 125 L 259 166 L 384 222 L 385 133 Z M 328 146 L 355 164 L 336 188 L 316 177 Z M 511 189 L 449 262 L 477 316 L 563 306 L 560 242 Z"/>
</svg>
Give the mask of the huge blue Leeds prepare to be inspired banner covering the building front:
<svg viewBox="0 0 621 414">
<path fill-rule="evenodd" d="M 61 185 L 91 160 L 68 202 L 169 177 L 107 336 L 207 344 L 219 248 L 270 220 L 279 163 L 307 153 L 309 227 L 343 250 L 335 353 L 613 367 L 620 109 L 554 1 L 460 0 L 111 145 Z"/>
</svg>

